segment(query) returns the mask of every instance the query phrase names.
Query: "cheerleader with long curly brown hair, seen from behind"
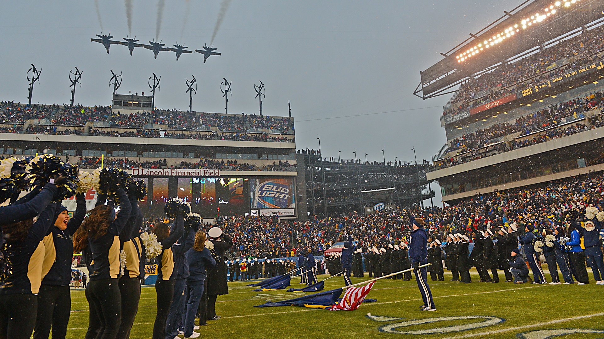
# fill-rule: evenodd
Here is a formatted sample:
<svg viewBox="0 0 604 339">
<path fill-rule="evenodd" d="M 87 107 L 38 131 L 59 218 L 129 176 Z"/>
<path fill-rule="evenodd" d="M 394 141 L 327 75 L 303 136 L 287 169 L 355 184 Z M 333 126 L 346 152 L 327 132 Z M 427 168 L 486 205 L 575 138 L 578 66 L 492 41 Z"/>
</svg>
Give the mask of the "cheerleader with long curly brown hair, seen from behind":
<svg viewBox="0 0 604 339">
<path fill-rule="evenodd" d="M 89 308 L 94 308 L 94 312 L 91 311 L 88 332 L 94 334 L 98 326 L 97 339 L 115 339 L 121 322 L 119 236 L 132 208 L 123 188 L 117 189 L 117 201 L 120 204 L 117 216 L 112 206 L 100 204 L 90 211 L 74 237 L 76 251 L 89 247 L 91 271 L 86 294 Z"/>
</svg>

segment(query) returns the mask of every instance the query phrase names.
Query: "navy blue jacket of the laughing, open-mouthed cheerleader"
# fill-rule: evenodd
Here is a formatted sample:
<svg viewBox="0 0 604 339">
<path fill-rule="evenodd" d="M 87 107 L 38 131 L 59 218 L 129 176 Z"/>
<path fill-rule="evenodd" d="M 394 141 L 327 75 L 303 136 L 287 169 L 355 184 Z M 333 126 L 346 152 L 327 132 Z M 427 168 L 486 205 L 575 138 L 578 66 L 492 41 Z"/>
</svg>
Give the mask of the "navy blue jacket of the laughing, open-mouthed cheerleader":
<svg viewBox="0 0 604 339">
<path fill-rule="evenodd" d="M 51 226 L 56 255 L 53 266 L 42 279 L 42 285 L 67 286 L 71 282 L 71 260 L 74 255 L 74 244 L 71 236 L 80 228 L 84 217 L 86 217 L 86 198 L 84 195 L 78 194 L 76 202 L 76 212 L 73 218 L 69 219 L 65 230 Z M 60 204 L 57 203 L 56 211 L 59 211 Z"/>
</svg>

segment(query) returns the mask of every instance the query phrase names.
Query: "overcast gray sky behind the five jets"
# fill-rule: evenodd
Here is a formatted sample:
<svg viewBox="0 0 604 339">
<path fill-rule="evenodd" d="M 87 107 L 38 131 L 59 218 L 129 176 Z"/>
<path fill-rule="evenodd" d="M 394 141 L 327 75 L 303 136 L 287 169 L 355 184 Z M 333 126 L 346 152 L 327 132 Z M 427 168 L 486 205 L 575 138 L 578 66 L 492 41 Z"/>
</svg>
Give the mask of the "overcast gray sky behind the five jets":
<svg viewBox="0 0 604 339">
<path fill-rule="evenodd" d="M 223 112 L 220 81 L 233 82 L 229 113 L 254 113 L 254 83 L 266 86 L 263 113 L 287 115 L 288 100 L 296 120 L 298 148 L 321 148 L 327 156 L 368 160 L 430 159 L 445 142 L 439 116 L 448 97 L 422 101 L 411 92 L 419 71 L 475 33 L 504 10 L 519 4 L 503 1 L 240 1 L 230 4 L 214 47 L 222 55 L 202 63 L 201 54 L 172 52 L 158 59 L 147 49 L 129 55 L 126 46 L 90 41 L 101 31 L 94 1 L 11 1 L 0 12 L 0 100 L 27 101 L 25 73 L 42 68 L 34 102 L 66 103 L 68 72 L 83 71 L 76 102 L 111 103 L 109 70 L 123 72 L 121 93 L 148 92 L 151 72 L 161 75 L 156 106 L 188 108 L 185 77 L 195 75 L 198 94 L 193 109 Z M 132 33 L 141 42 L 155 38 L 157 0 L 132 0 Z M 123 0 L 98 3 L 103 33 L 114 40 L 129 34 Z M 159 40 L 183 42 L 190 49 L 210 43 L 219 1 L 165 0 Z M 188 19 L 184 19 L 188 12 Z M 435 107 L 434 107 L 435 106 Z M 407 112 L 332 118 L 364 113 Z"/>
</svg>

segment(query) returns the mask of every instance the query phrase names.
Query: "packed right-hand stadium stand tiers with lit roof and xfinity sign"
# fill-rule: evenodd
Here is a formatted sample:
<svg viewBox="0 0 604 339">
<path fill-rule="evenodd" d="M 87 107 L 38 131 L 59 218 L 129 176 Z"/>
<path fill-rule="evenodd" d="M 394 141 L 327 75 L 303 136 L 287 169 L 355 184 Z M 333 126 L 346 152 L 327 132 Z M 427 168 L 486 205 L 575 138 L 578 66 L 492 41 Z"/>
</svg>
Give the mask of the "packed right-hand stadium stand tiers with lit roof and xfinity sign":
<svg viewBox="0 0 604 339">
<path fill-rule="evenodd" d="M 427 180 L 443 201 L 604 170 L 604 4 L 526 1 L 420 73 L 452 93 Z"/>
</svg>

